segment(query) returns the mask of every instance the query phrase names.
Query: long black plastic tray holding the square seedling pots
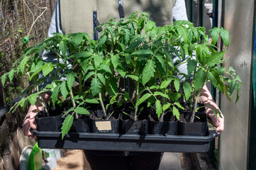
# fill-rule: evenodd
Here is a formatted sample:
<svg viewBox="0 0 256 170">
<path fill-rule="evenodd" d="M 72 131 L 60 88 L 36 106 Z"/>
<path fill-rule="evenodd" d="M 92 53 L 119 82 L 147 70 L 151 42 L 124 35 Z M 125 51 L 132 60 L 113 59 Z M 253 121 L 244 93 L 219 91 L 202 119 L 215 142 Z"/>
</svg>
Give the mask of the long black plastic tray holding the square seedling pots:
<svg viewBox="0 0 256 170">
<path fill-rule="evenodd" d="M 209 142 L 217 137 L 213 130 L 206 136 L 69 132 L 62 140 L 61 132 L 32 131 L 41 148 L 133 152 L 207 152 Z"/>
</svg>

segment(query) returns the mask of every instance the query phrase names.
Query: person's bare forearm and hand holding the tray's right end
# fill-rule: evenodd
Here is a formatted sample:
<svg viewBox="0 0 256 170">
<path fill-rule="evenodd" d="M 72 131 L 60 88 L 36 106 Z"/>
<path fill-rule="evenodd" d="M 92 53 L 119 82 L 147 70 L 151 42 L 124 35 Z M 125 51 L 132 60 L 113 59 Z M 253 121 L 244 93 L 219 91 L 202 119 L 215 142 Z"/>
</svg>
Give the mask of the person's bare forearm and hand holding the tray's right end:
<svg viewBox="0 0 256 170">
<path fill-rule="evenodd" d="M 218 108 L 217 104 L 215 103 L 215 101 L 213 101 L 213 97 L 211 96 L 211 92 L 208 91 L 208 88 L 206 85 L 204 85 L 204 88 L 201 92 L 201 96 L 199 97 L 199 102 L 200 103 L 204 103 L 204 105 L 206 106 L 206 114 L 208 115 L 208 118 L 210 118 L 211 123 L 213 123 L 213 125 L 216 127 L 216 131 L 218 134 L 220 134 L 220 132 L 222 132 L 224 130 L 224 115 L 221 113 L 221 117 L 217 114 L 217 118 L 215 116 L 215 114 L 213 113 L 213 109 L 215 108 L 215 110 L 220 110 L 220 108 Z M 210 107 L 207 107 L 210 106 Z"/>
</svg>

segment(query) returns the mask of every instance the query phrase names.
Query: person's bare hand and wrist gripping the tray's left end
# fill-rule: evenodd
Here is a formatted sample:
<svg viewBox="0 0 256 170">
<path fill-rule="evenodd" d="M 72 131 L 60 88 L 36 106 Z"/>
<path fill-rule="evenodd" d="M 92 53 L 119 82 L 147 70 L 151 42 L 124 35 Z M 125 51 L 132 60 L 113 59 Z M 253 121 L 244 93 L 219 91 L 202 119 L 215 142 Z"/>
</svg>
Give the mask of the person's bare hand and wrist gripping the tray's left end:
<svg viewBox="0 0 256 170">
<path fill-rule="evenodd" d="M 43 93 L 40 95 L 43 103 L 47 103 L 50 100 L 50 94 Z M 38 111 L 43 111 L 44 107 L 40 103 L 40 99 L 38 98 L 38 101 L 35 102 L 34 106 L 30 106 L 28 109 L 28 113 L 26 117 L 23 120 L 23 129 L 24 129 L 24 135 L 28 136 L 30 139 L 35 138 L 35 136 L 30 132 L 30 129 L 36 129 L 35 124 L 35 115 L 38 114 Z"/>
</svg>

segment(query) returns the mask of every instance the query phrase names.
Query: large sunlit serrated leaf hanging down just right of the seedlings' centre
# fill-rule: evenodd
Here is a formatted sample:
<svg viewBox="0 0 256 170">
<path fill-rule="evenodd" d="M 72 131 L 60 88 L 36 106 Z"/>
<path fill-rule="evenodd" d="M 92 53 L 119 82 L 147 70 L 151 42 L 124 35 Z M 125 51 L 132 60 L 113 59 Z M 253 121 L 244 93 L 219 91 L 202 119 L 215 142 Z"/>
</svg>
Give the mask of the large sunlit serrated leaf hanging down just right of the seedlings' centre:
<svg viewBox="0 0 256 170">
<path fill-rule="evenodd" d="M 152 77 L 154 77 L 155 73 L 155 61 L 154 60 L 148 60 L 148 62 L 145 64 L 145 67 L 143 69 L 143 85 L 148 83 Z"/>
</svg>

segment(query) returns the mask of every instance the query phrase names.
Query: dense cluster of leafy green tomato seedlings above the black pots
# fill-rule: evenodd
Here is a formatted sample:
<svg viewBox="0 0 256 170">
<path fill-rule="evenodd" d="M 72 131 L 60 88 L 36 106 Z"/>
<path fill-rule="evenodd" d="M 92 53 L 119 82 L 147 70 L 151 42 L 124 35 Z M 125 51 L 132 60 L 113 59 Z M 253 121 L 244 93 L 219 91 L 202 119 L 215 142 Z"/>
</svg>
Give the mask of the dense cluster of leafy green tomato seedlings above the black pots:
<svg viewBox="0 0 256 170">
<path fill-rule="evenodd" d="M 235 70 L 221 67 L 226 51 L 217 52 L 214 45 L 221 35 L 228 47 L 228 31 L 223 28 L 211 30 L 213 40 L 209 43 L 202 27 L 195 28 L 188 21 L 157 27 L 148 13 L 133 13 L 118 22 L 111 19 L 100 27 L 103 30 L 99 40 L 91 40 L 87 33 L 55 33 L 28 48 L 1 81 L 4 85 L 7 77 L 12 81 L 14 74 L 27 74 L 31 81 L 28 89 L 34 93 L 11 109 L 34 105 L 43 92 L 51 94 L 54 107 L 69 103 L 69 110 L 63 115 L 64 137 L 74 118 L 89 114 L 88 103 L 99 104 L 108 119 L 113 104 L 123 106 L 130 102 L 135 112 L 133 119 L 137 120 L 140 104 L 147 102 L 163 121 L 165 114 L 179 119 L 179 109 L 184 109 L 179 103 L 181 98 L 196 102 L 208 81 L 228 98 L 235 87 L 240 91 L 241 81 L 239 76 L 235 77 Z M 47 55 L 38 57 L 42 50 Z M 184 66 L 187 72 L 180 72 L 179 67 Z M 123 79 L 130 79 L 134 88 L 125 91 L 120 85 Z M 44 82 L 48 82 L 46 86 Z M 78 84 L 76 88 L 74 84 Z M 195 103 L 193 112 L 196 110 Z"/>
</svg>

